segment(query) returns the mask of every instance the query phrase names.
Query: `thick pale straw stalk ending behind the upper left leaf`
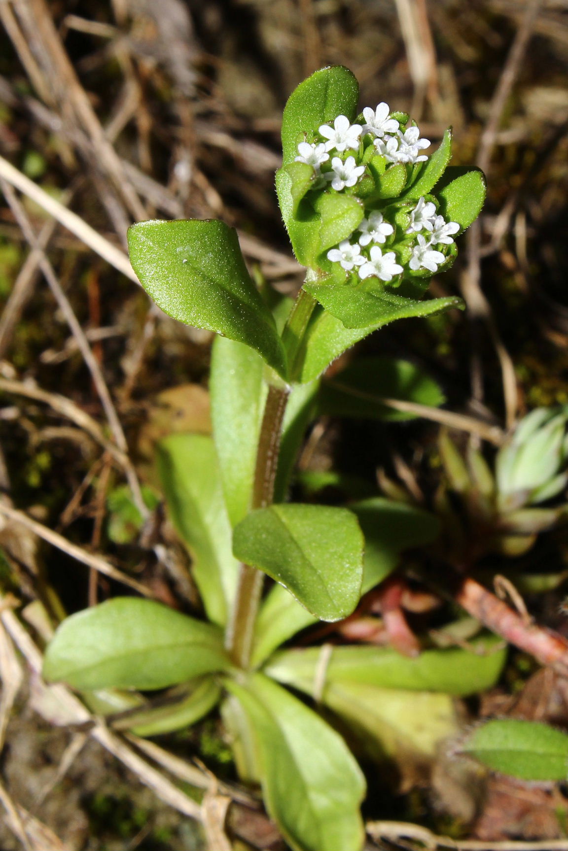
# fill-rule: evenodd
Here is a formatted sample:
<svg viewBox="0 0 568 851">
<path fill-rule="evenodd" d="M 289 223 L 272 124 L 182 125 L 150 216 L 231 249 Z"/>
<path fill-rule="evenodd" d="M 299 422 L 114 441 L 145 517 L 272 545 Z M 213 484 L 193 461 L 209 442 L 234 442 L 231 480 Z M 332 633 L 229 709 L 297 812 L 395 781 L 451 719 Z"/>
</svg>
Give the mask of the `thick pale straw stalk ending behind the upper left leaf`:
<svg viewBox="0 0 568 851">
<path fill-rule="evenodd" d="M 97 233 L 80 216 L 48 195 L 33 180 L 26 177 L 26 174 L 22 174 L 17 168 L 14 168 L 4 157 L 0 157 L 0 177 L 3 177 L 4 180 L 7 180 L 9 184 L 15 186 L 16 189 L 19 189 L 27 197 L 32 198 L 32 201 L 35 201 L 47 213 L 58 220 L 60 225 L 66 227 L 68 231 L 75 234 L 85 245 L 92 248 L 95 254 L 99 254 L 103 260 L 106 260 L 107 263 L 110 263 L 111 266 L 114 266 L 123 275 L 129 277 L 134 283 L 140 283 L 135 276 L 134 269 L 130 266 L 128 257 L 120 248 L 109 243 L 105 237 L 101 237 L 100 233 Z"/>
</svg>

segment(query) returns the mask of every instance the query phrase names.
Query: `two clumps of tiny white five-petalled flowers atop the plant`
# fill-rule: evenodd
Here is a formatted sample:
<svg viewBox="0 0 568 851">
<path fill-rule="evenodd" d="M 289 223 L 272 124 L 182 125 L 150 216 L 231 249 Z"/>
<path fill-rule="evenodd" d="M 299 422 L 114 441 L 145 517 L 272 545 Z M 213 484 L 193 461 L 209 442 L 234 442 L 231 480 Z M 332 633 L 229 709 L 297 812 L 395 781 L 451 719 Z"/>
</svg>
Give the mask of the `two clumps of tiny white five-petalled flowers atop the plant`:
<svg viewBox="0 0 568 851">
<path fill-rule="evenodd" d="M 378 104 L 375 110 L 366 107 L 364 123 L 352 124 L 347 116 L 337 116 L 333 124 L 319 127 L 319 138 L 298 145 L 295 161 L 313 167 L 317 175 L 314 187 L 330 186 L 337 192 L 357 194 L 357 186 L 369 174 L 368 164 L 377 155 L 384 157 L 384 171 L 397 164 L 411 168 L 427 160 L 422 151 L 430 142 L 421 138 L 416 126 L 405 126 L 404 115 L 398 116 L 391 115 L 386 103 Z M 445 221 L 432 200 L 421 197 L 413 208 L 410 204 L 395 206 L 394 200 L 386 206 L 383 203 L 381 210 L 367 209 L 357 231 L 327 252 L 328 260 L 360 279 L 375 276 L 385 283 L 392 282 L 405 268 L 431 274 L 438 271 L 447 259 L 439 247 L 453 243 L 460 226 Z M 373 205 L 376 201 L 370 202 Z M 401 208 L 408 220 L 402 228 L 400 217 L 395 220 Z"/>
</svg>

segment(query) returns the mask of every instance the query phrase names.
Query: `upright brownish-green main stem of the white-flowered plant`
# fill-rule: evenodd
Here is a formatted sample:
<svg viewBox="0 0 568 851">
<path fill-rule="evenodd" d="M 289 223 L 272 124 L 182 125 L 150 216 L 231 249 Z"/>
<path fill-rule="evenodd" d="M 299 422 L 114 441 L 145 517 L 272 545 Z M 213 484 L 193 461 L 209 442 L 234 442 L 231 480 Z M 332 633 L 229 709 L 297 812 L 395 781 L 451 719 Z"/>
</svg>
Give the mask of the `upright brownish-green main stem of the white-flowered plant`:
<svg viewBox="0 0 568 851">
<path fill-rule="evenodd" d="M 291 380 L 295 378 L 301 342 L 315 306 L 315 299 L 301 289 L 282 334 L 288 363 L 290 364 Z M 290 386 L 273 384 L 268 386 L 267 402 L 262 417 L 256 454 L 251 511 L 256 508 L 266 508 L 273 502 L 280 436 L 289 396 Z M 227 631 L 227 649 L 235 665 L 244 670 L 250 665 L 255 620 L 261 602 L 263 582 L 264 574 L 261 570 L 252 568 L 249 564 L 241 564 L 235 607 Z"/>
</svg>

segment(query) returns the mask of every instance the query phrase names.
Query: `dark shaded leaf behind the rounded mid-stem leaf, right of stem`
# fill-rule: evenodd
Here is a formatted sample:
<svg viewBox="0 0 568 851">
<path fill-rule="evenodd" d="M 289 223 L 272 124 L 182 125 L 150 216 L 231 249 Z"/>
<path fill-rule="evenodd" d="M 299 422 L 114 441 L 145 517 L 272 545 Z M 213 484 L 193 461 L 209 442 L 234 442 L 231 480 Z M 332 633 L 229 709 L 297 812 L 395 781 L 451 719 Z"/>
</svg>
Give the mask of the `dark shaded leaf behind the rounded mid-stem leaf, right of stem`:
<svg viewBox="0 0 568 851">
<path fill-rule="evenodd" d="M 439 535 L 438 517 L 403 502 L 376 496 L 350 508 L 364 534 L 364 594 L 398 567 L 402 551 L 431 544 Z"/>
</svg>

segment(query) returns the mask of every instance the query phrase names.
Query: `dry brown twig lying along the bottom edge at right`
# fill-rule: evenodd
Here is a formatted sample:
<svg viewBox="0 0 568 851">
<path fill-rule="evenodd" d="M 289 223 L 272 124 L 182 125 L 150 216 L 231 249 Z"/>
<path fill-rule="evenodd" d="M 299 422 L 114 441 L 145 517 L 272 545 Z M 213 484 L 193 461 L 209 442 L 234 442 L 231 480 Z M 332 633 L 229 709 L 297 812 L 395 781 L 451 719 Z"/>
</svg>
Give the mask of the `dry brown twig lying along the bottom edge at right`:
<svg viewBox="0 0 568 851">
<path fill-rule="evenodd" d="M 435 848 L 451 848 L 452 851 L 568 851 L 568 839 L 545 839 L 542 842 L 517 842 L 516 840 L 488 842 L 479 839 L 451 839 L 438 836 L 422 825 L 405 821 L 368 821 L 367 833 L 373 839 L 399 839 L 405 837 L 421 842 L 434 851 Z"/>
</svg>

